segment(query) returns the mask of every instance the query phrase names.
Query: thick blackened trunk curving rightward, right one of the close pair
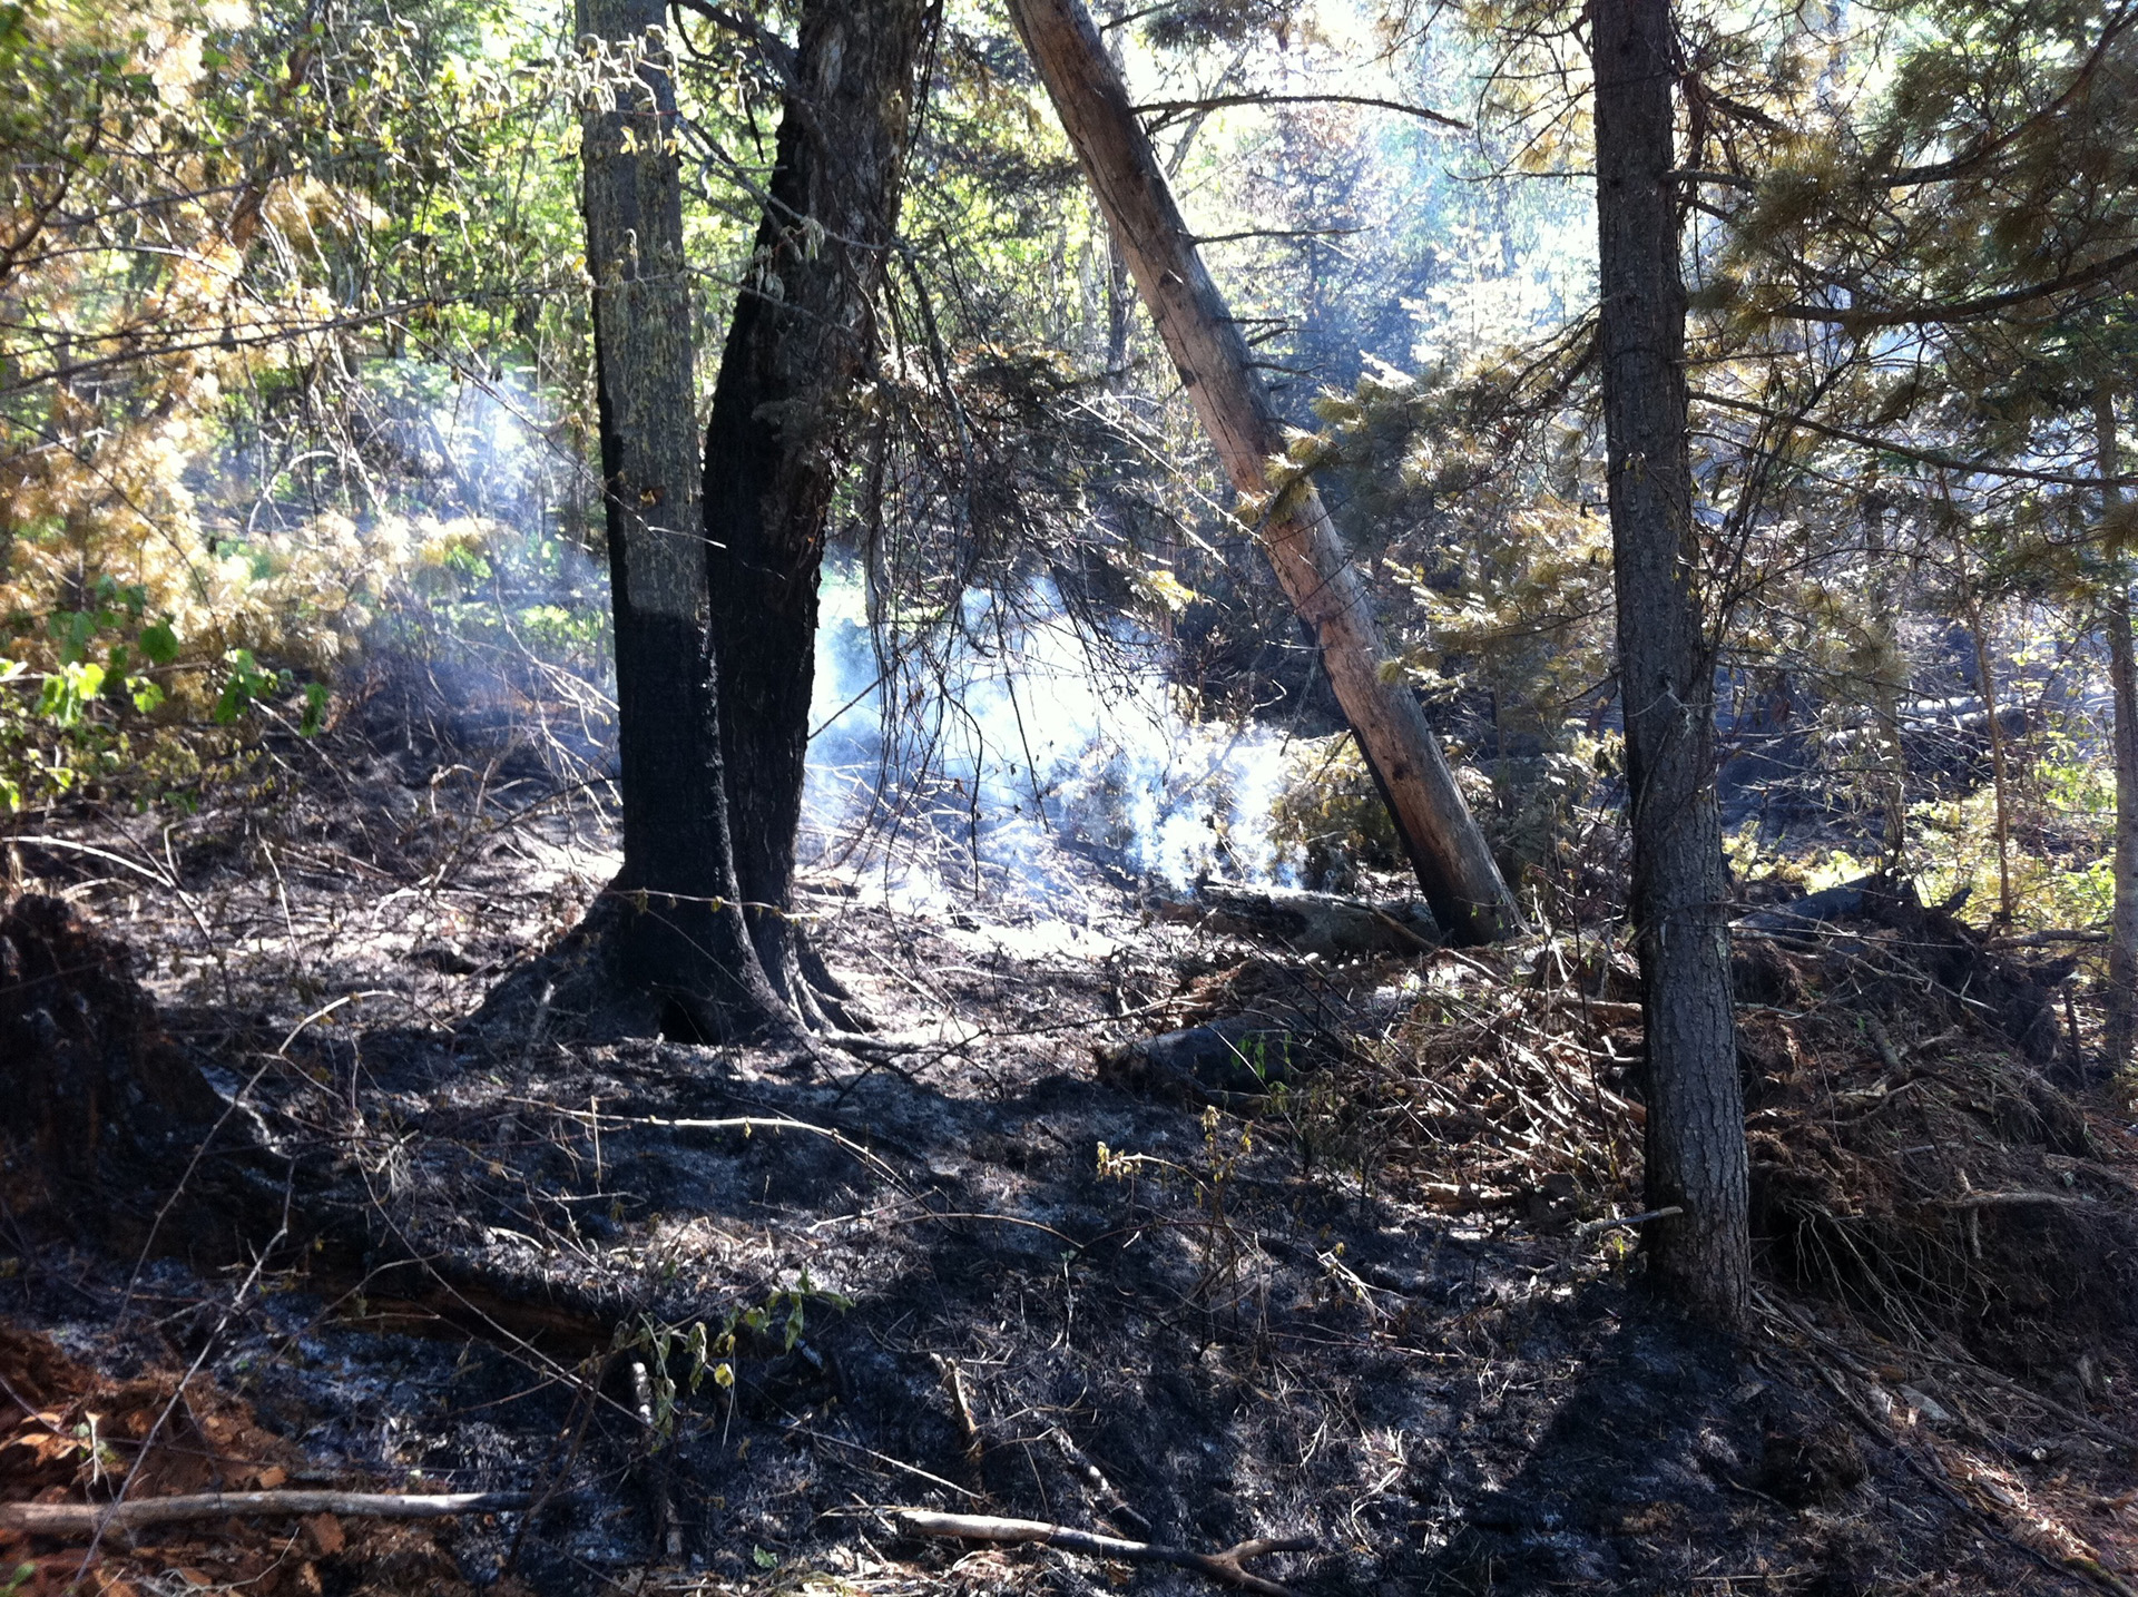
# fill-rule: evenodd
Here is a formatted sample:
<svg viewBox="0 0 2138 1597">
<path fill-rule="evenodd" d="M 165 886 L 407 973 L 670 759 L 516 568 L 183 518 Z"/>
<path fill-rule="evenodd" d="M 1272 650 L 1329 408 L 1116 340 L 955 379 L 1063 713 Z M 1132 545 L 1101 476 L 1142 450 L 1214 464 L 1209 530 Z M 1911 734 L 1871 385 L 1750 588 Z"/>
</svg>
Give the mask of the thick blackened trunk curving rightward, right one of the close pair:
<svg viewBox="0 0 2138 1597">
<path fill-rule="evenodd" d="M 735 877 L 759 960 L 806 1020 L 827 986 L 793 911 L 817 584 L 842 408 L 874 353 L 928 0 L 810 0 L 770 205 L 706 430 L 706 537 Z"/>
</svg>

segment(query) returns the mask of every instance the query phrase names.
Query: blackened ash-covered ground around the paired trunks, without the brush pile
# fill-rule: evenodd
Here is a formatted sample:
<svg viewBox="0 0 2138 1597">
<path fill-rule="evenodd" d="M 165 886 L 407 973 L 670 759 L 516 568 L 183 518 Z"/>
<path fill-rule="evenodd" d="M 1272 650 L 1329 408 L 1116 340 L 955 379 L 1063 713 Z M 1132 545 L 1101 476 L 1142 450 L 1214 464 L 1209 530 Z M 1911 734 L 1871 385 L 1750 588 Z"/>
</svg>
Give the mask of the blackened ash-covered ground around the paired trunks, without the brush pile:
<svg viewBox="0 0 2138 1597">
<path fill-rule="evenodd" d="M 2114 1349 L 2052 1409 L 1779 1287 L 1723 1345 L 1554 1187 L 1486 1204 L 1467 1167 L 1435 1182 L 1430 1139 L 1351 1159 L 1311 1088 L 1197 1110 L 1093 1065 L 1214 994 L 1353 1015 L 1385 1033 L 1349 1043 L 1373 1063 L 1445 1028 L 1422 996 L 1514 990 L 1475 960 L 1330 971 L 1144 924 L 1099 883 L 921 915 L 825 879 L 819 939 L 896 1045 L 477 1048 L 455 1022 L 599 883 L 599 815 L 387 770 L 351 791 L 180 829 L 169 870 L 214 941 L 32 855 L 150 956 L 229 1099 L 259 1073 L 259 1146 L 197 1180 L 267 1251 L 165 1229 L 137 1278 L 133 1251 L 21 1225 L 0 1308 L 109 1377 L 201 1358 L 314 1473 L 547 1494 L 443 1529 L 460 1578 L 1206 1588 L 902 1539 L 900 1503 L 1304 1533 L 1270 1573 L 1311 1593 L 2050 1593 L 2091 1580 L 2072 1559 L 2127 1567 Z M 233 1009 L 250 1041 L 218 1056 Z M 2093 1112 L 2095 1163 L 2127 1167 Z"/>
</svg>

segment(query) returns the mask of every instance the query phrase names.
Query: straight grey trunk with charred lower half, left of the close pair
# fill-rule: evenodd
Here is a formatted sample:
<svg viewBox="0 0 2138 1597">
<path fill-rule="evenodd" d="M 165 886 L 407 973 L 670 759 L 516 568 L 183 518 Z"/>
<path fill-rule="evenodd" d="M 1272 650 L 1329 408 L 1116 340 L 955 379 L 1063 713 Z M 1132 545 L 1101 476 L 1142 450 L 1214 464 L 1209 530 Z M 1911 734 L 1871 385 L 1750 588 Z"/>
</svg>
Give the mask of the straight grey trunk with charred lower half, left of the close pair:
<svg viewBox="0 0 2138 1597">
<path fill-rule="evenodd" d="M 691 383 L 691 289 L 665 0 L 579 0 L 614 68 L 584 128 L 601 472 L 616 607 L 624 868 L 614 968 L 714 1035 L 778 1013 L 735 906 L 721 714 L 706 631 L 706 530 Z M 624 64 L 629 53 L 631 64 Z"/>
</svg>

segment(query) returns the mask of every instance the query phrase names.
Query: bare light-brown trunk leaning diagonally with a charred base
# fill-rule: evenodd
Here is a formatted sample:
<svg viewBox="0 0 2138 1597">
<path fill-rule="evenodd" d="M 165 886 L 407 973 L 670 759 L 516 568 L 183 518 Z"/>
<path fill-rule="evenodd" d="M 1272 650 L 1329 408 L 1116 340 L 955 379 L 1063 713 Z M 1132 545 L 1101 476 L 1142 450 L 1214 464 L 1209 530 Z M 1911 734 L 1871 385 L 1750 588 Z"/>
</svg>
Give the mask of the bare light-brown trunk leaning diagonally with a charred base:
<svg viewBox="0 0 2138 1597">
<path fill-rule="evenodd" d="M 1255 376 L 1240 325 L 1195 252 L 1099 30 L 1078 0 L 1009 0 L 1009 15 L 1219 460 L 1242 496 L 1268 496 L 1270 460 L 1285 453 L 1283 423 Z M 1259 539 L 1293 609 L 1315 633 L 1336 701 L 1388 800 L 1435 919 L 1450 936 L 1473 943 L 1518 930 L 1514 898 L 1417 697 L 1383 676 L 1388 650 L 1366 588 L 1311 483 L 1272 500 Z"/>
</svg>

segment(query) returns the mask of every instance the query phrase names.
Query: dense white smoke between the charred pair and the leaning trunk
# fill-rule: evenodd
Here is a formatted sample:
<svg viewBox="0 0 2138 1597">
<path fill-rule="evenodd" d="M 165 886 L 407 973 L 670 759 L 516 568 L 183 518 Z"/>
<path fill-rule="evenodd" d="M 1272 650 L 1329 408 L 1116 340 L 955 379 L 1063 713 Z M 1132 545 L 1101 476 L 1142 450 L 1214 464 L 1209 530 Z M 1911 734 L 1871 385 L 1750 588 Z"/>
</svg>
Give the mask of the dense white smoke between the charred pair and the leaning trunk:
<svg viewBox="0 0 2138 1597">
<path fill-rule="evenodd" d="M 827 567 L 806 853 L 868 862 L 915 909 L 975 889 L 1060 906 L 1093 872 L 1285 872 L 1285 733 L 1184 716 L 1161 639 L 1120 620 L 1093 635 L 1039 586 L 971 594 L 932 648 L 883 663 L 862 611 L 855 573 Z"/>
</svg>

